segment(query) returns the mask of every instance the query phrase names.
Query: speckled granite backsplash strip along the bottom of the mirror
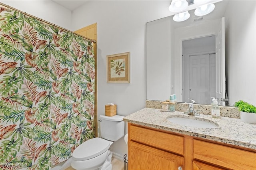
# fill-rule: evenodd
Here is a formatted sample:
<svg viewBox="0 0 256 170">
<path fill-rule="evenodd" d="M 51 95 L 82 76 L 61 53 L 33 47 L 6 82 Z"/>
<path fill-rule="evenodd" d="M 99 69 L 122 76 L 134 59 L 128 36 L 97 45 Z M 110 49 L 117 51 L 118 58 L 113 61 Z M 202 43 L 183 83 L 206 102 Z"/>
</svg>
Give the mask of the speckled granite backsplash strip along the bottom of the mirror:
<svg viewBox="0 0 256 170">
<path fill-rule="evenodd" d="M 146 107 L 161 109 L 162 102 L 146 100 Z M 196 113 L 203 114 L 203 115 L 211 115 L 212 114 L 211 107 L 212 107 L 211 105 L 194 104 L 194 110 L 196 111 Z M 188 104 L 175 102 L 175 110 L 180 112 L 186 112 L 188 111 Z M 238 110 L 237 107 L 220 106 L 220 116 L 240 119 L 240 111 Z"/>
</svg>

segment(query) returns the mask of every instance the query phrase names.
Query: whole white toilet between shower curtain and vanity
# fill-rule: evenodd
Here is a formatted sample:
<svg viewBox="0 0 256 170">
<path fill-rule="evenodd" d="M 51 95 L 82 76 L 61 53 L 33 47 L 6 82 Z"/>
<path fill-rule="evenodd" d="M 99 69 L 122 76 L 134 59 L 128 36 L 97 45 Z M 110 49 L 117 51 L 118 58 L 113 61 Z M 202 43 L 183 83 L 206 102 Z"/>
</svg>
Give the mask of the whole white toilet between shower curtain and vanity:
<svg viewBox="0 0 256 170">
<path fill-rule="evenodd" d="M 101 138 L 80 144 L 72 153 L 71 166 L 76 170 L 112 170 L 110 145 L 124 136 L 123 116 L 100 115 Z"/>
</svg>

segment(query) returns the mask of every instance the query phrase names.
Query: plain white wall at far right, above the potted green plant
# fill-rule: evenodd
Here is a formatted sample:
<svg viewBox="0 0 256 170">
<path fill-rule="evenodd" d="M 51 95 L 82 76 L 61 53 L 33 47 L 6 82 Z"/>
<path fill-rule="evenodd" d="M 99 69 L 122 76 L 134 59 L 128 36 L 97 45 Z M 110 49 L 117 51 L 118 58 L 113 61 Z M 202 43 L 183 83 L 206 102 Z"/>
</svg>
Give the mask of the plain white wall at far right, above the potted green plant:
<svg viewBox="0 0 256 170">
<path fill-rule="evenodd" d="M 255 8 L 256 1 L 232 1 L 225 14 L 225 25 L 229 28 L 225 30 L 225 45 L 230 105 L 239 100 L 256 105 Z"/>
</svg>

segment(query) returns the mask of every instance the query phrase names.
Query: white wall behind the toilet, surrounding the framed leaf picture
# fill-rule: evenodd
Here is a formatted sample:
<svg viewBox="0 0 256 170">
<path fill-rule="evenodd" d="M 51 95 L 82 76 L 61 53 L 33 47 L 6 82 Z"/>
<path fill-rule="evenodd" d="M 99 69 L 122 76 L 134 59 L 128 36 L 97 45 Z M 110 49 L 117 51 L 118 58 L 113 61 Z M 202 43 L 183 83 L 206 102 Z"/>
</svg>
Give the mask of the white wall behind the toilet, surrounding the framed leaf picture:
<svg viewBox="0 0 256 170">
<path fill-rule="evenodd" d="M 73 11 L 73 30 L 97 22 L 98 36 L 98 114 L 114 102 L 118 115 L 130 115 L 145 107 L 146 100 L 146 22 L 169 16 L 168 1 L 89 1 Z M 106 83 L 106 55 L 130 51 L 131 83 Z M 157 93 L 157 91 L 156 91 Z M 125 130 L 127 132 L 127 129 Z M 124 139 L 112 150 L 127 153 Z"/>
</svg>

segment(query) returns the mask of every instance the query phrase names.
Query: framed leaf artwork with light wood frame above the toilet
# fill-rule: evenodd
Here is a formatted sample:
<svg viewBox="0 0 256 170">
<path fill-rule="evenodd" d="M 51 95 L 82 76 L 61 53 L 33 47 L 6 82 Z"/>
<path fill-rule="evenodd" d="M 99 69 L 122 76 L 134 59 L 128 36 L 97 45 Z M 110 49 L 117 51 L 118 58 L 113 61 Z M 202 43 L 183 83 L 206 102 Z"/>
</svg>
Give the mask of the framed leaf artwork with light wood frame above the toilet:
<svg viewBox="0 0 256 170">
<path fill-rule="evenodd" d="M 130 83 L 130 52 L 106 56 L 107 83 Z"/>
</svg>

